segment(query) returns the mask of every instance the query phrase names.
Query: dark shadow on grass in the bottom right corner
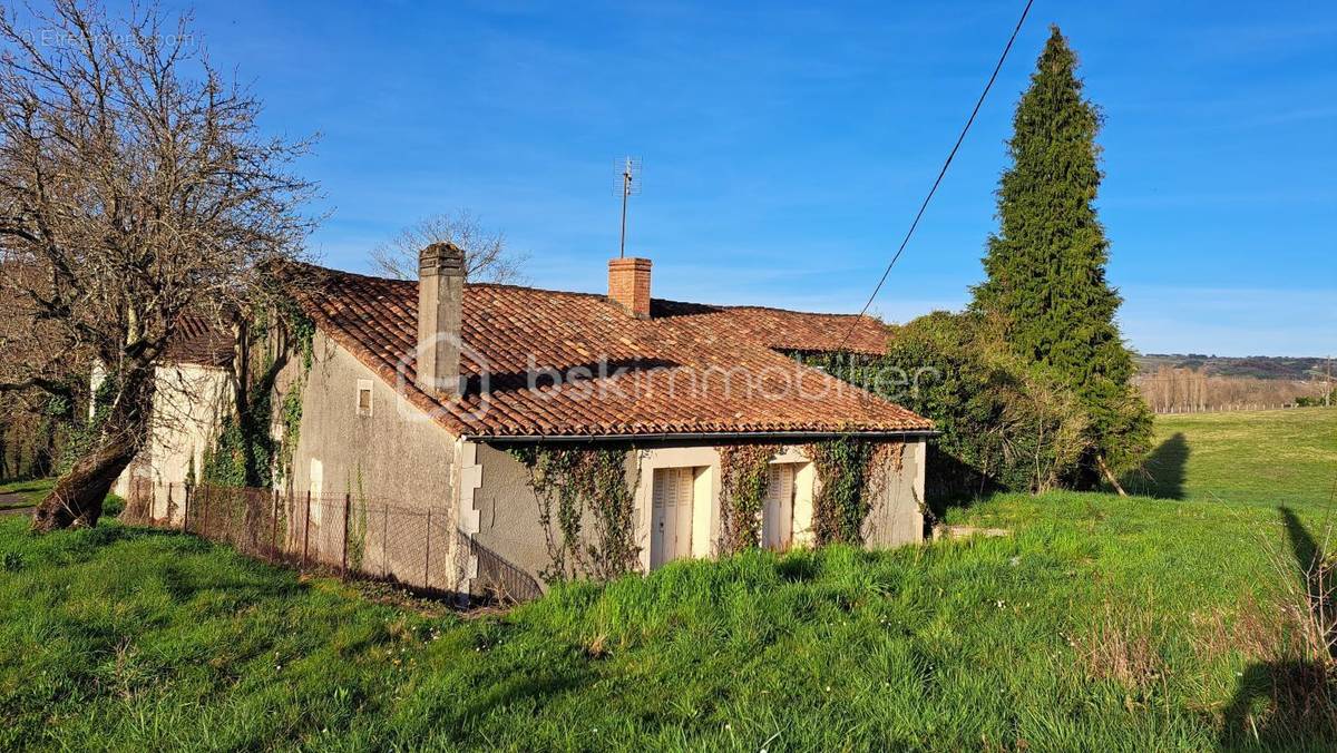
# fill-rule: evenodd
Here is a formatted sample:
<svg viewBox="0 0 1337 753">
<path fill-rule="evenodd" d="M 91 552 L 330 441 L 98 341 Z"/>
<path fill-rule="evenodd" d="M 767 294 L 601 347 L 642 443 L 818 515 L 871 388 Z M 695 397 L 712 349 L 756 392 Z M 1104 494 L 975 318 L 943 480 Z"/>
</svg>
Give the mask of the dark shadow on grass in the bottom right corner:
<svg viewBox="0 0 1337 753">
<path fill-rule="evenodd" d="M 1302 594 L 1294 605 L 1300 617 L 1312 617 L 1318 630 L 1334 625 L 1330 574 L 1325 552 L 1300 518 L 1278 508 L 1294 556 Z M 1306 611 L 1312 610 L 1312 615 Z M 1325 635 L 1320 638 L 1332 638 Z M 1330 645 L 1330 642 L 1329 642 Z M 1337 677 L 1330 649 L 1312 647 L 1318 657 L 1278 658 L 1250 665 L 1239 677 L 1235 695 L 1225 712 L 1221 745 L 1227 749 L 1332 750 L 1337 742 Z M 1304 651 L 1302 651 L 1304 653 Z M 1326 655 L 1324 655 L 1326 654 Z"/>
</svg>

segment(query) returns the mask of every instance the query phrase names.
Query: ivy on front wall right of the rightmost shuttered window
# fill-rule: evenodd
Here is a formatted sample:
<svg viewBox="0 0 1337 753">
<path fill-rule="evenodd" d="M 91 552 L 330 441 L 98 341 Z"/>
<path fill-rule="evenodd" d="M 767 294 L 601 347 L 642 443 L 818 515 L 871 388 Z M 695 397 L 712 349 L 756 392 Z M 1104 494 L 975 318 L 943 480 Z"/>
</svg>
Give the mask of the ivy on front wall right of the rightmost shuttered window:
<svg viewBox="0 0 1337 753">
<path fill-rule="evenodd" d="M 817 469 L 813 532 L 817 544 L 864 543 L 864 523 L 885 484 L 885 471 L 898 471 L 905 445 L 841 436 L 809 444 Z"/>
</svg>

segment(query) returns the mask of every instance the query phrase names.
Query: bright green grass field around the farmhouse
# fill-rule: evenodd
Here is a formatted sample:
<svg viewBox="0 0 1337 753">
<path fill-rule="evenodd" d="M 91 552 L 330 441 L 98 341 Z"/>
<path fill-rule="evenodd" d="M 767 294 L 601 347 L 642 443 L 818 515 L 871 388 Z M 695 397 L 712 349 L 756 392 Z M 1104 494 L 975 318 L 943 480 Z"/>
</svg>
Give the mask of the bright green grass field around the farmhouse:
<svg viewBox="0 0 1337 753">
<path fill-rule="evenodd" d="M 1321 540 L 1337 411 L 1158 432 L 1161 499 L 1000 495 L 951 520 L 1008 538 L 681 563 L 481 617 L 0 519 L 0 749 L 1330 748 L 1273 599 Z"/>
</svg>

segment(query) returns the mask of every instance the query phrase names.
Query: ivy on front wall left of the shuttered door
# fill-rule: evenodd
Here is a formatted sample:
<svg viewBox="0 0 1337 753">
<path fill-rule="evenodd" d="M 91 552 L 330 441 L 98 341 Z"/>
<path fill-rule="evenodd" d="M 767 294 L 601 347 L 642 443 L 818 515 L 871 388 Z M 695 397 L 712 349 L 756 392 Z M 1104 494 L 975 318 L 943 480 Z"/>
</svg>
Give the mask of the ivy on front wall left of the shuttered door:
<svg viewBox="0 0 1337 753">
<path fill-rule="evenodd" d="M 555 583 L 572 578 L 611 580 L 636 568 L 635 481 L 639 469 L 626 447 L 554 447 L 531 444 L 511 449 L 529 472 L 539 504 L 548 566 L 540 572 Z M 587 526 L 588 523 L 588 526 Z"/>
</svg>

